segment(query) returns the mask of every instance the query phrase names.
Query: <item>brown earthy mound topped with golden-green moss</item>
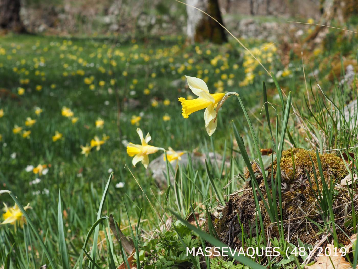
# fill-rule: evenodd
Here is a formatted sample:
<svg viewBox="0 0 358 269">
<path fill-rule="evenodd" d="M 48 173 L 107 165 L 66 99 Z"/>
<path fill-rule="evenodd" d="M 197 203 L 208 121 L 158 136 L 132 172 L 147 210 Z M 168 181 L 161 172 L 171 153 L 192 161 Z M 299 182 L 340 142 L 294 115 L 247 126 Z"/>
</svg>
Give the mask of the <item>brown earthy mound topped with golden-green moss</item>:
<svg viewBox="0 0 358 269">
<path fill-rule="evenodd" d="M 296 244 L 297 238 L 303 242 L 314 244 L 320 240 L 322 235 L 317 234 L 318 227 L 308 221 L 304 216 L 308 216 L 310 219 L 323 223 L 320 214 L 320 208 L 316 202 L 314 192 L 318 194 L 318 188 L 314 180 L 314 169 L 319 181 L 319 189 L 321 190 L 322 184 L 319 176 L 319 169 L 317 165 L 316 153 L 314 151 L 307 151 L 302 148 L 293 148 L 286 150 L 282 153 L 281 158 L 281 178 L 282 178 L 282 217 L 284 220 L 285 237 L 287 239 L 288 233 L 290 242 Z M 293 162 L 294 165 L 293 165 Z M 330 180 L 337 180 L 344 178 L 347 175 L 345 165 L 338 156 L 334 154 L 321 154 L 320 155 L 323 174 L 326 182 Z M 257 181 L 260 185 L 263 197 L 267 201 L 267 193 L 265 185 L 262 180 L 262 174 L 257 165 L 252 164 L 253 170 L 257 175 Z M 274 162 L 274 178 L 276 176 L 277 163 Z M 269 171 L 268 178 L 271 179 L 271 165 L 267 169 Z M 309 183 L 307 173 L 310 175 L 312 186 Z M 246 178 L 249 177 L 248 172 L 245 173 Z M 271 180 L 269 180 L 271 187 Z M 272 194 L 272 190 L 271 190 Z M 257 195 L 259 200 L 260 197 Z M 278 196 L 277 196 L 278 197 Z M 343 190 L 337 189 L 337 195 L 333 200 L 333 208 L 335 212 L 336 223 L 343 229 L 345 218 L 345 203 L 350 202 L 348 200 L 349 194 L 343 193 Z M 277 198 L 278 200 L 278 198 Z M 265 236 L 269 234 L 270 238 L 278 237 L 278 229 L 275 223 L 271 223 L 269 214 L 266 211 L 262 200 L 259 202 L 261 208 L 262 218 L 264 220 L 264 226 L 267 227 L 267 231 L 264 232 Z M 277 207 L 279 208 L 279 207 Z M 348 207 L 348 214 L 349 214 Z M 347 210 L 346 209 L 346 210 Z M 253 198 L 253 192 L 251 190 L 250 181 L 246 183 L 245 190 L 236 195 L 232 195 L 230 200 L 226 203 L 226 206 L 222 210 L 219 217 L 214 220 L 216 231 L 221 237 L 221 240 L 229 246 L 241 246 L 241 228 L 238 221 L 240 218 L 241 223 L 245 228 L 245 233 L 248 233 L 250 228 L 252 231 L 256 230 L 255 214 L 256 214 L 255 200 Z M 340 218 L 343 217 L 343 218 Z M 250 223 L 250 224 L 249 224 Z M 251 227 L 250 227 L 251 225 Z M 258 225 L 260 227 L 260 225 Z M 339 229 L 337 229 L 338 233 Z M 348 235 L 350 232 L 345 230 Z M 239 236 L 240 235 L 240 236 Z M 343 233 L 339 235 L 342 243 L 347 241 Z M 348 241 L 347 241 L 348 242 Z"/>
</svg>

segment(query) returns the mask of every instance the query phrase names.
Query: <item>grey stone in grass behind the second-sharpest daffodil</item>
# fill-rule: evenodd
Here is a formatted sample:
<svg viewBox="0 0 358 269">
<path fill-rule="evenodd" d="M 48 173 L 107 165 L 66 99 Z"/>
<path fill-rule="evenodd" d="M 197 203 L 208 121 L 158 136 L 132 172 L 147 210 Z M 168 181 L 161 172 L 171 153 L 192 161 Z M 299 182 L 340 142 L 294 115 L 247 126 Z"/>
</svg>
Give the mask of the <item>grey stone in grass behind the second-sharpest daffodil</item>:
<svg viewBox="0 0 358 269">
<path fill-rule="evenodd" d="M 177 152 L 180 153 L 182 151 L 177 151 Z M 179 165 L 186 167 L 188 165 L 188 154 L 183 154 L 181 157 L 182 159 L 179 161 Z M 205 167 L 205 160 L 207 160 L 207 162 L 211 162 L 213 165 L 215 165 L 215 163 L 217 162 L 219 168 L 221 167 L 223 162 L 223 157 L 220 154 L 214 152 L 209 152 L 208 155 L 195 152 L 191 154 L 191 158 L 194 168 Z M 173 170 L 175 171 L 176 161 L 170 165 L 173 167 Z M 225 165 L 229 166 L 230 162 L 225 161 Z M 166 174 L 166 162 L 164 161 L 164 153 L 163 153 L 149 163 L 147 169 L 147 175 L 152 176 L 155 179 L 156 183 L 161 187 L 166 185 L 165 174 Z M 170 171 L 169 171 L 169 175 L 170 175 L 171 183 L 174 183 L 174 176 L 170 173 Z"/>
</svg>

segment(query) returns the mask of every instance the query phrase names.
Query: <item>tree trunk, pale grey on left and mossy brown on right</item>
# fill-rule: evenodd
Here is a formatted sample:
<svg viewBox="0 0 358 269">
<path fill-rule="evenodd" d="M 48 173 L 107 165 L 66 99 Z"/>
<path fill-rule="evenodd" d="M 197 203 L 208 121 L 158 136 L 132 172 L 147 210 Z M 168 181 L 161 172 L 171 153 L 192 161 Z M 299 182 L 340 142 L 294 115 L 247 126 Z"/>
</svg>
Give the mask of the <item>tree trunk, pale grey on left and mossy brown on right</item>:
<svg viewBox="0 0 358 269">
<path fill-rule="evenodd" d="M 205 11 L 223 24 L 218 0 L 187 0 L 187 4 Z M 226 42 L 224 29 L 212 18 L 191 6 L 187 6 L 187 35 L 190 41 L 193 43 L 209 40 L 218 44 Z"/>
</svg>

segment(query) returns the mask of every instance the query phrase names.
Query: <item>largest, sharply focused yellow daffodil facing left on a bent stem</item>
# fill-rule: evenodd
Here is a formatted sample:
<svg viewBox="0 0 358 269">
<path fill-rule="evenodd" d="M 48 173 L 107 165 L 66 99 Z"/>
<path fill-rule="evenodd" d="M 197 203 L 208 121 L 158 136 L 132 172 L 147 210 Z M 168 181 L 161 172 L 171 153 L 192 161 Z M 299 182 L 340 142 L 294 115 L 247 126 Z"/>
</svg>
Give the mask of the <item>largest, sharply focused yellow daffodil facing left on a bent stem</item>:
<svg viewBox="0 0 358 269">
<path fill-rule="evenodd" d="M 214 121 L 216 118 L 216 111 L 214 110 L 214 105 L 221 101 L 224 97 L 224 93 L 209 93 L 208 86 L 206 83 L 197 78 L 197 77 L 187 77 L 188 85 L 193 94 L 197 95 L 199 98 L 193 100 L 185 100 L 185 98 L 179 98 L 179 102 L 182 103 L 182 115 L 184 118 L 188 118 L 190 114 L 205 109 L 204 112 L 204 121 L 205 129 L 209 136 L 215 132 L 217 121 Z"/>
</svg>

